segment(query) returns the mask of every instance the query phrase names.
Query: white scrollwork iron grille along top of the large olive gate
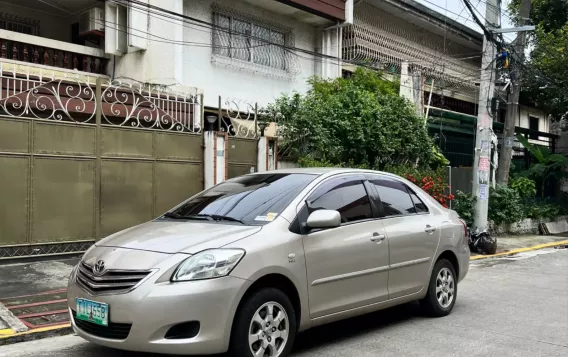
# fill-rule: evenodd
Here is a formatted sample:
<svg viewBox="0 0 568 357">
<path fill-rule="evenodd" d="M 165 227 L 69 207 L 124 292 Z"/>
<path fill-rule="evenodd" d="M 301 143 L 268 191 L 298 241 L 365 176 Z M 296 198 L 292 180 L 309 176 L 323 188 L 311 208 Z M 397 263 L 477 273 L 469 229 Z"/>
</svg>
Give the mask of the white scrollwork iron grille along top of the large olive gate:
<svg viewBox="0 0 568 357">
<path fill-rule="evenodd" d="M 75 123 L 95 122 L 96 77 L 63 72 L 4 71 L 0 63 L 0 115 Z M 102 124 L 200 133 L 202 99 L 167 87 L 104 79 Z"/>
</svg>

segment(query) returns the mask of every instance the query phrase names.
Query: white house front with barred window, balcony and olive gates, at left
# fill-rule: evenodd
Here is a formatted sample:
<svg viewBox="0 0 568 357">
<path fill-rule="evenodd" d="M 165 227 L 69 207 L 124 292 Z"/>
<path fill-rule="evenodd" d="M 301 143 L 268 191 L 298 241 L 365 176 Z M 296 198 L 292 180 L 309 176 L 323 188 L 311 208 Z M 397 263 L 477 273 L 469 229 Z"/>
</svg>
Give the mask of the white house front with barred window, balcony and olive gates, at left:
<svg viewBox="0 0 568 357">
<path fill-rule="evenodd" d="M 352 4 L 0 1 L 0 259 L 84 251 L 273 167 L 258 108 L 341 75 Z"/>
</svg>

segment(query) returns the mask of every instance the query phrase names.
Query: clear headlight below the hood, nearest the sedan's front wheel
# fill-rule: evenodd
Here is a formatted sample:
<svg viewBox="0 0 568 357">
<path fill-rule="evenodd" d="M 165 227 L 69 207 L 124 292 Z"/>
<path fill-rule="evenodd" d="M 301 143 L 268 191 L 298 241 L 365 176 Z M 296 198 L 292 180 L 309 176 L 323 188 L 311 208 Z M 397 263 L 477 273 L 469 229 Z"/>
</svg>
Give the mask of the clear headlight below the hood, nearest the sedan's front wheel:
<svg viewBox="0 0 568 357">
<path fill-rule="evenodd" d="M 211 249 L 184 260 L 172 275 L 172 281 L 212 279 L 227 276 L 241 261 L 241 249 Z"/>
</svg>

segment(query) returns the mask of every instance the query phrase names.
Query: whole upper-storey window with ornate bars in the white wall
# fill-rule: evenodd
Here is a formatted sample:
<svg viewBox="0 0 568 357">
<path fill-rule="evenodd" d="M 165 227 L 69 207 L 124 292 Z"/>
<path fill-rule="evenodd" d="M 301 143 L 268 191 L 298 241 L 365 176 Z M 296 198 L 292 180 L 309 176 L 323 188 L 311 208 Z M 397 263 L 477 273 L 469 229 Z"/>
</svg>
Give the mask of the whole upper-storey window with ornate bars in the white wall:
<svg viewBox="0 0 568 357">
<path fill-rule="evenodd" d="M 287 34 L 269 26 L 233 16 L 214 13 L 213 54 L 259 66 L 288 70 Z"/>
</svg>

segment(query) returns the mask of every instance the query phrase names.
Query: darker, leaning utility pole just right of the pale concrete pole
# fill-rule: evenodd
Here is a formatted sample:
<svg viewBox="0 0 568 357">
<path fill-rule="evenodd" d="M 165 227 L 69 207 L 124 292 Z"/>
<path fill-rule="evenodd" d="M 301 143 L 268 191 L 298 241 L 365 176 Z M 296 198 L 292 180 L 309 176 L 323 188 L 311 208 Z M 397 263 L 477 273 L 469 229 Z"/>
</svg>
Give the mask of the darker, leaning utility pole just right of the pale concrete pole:
<svg viewBox="0 0 568 357">
<path fill-rule="evenodd" d="M 522 0 L 519 15 L 523 26 L 528 23 L 531 11 L 531 0 Z M 513 156 L 513 144 L 515 142 L 515 124 L 519 117 L 519 96 L 521 94 L 521 76 L 519 66 L 525 58 L 525 46 L 527 41 L 526 31 L 520 31 L 515 41 L 515 63 L 511 71 L 511 90 L 507 94 L 507 115 L 505 116 L 505 130 L 499 155 L 499 167 L 497 169 L 497 183 L 506 185 L 509 182 L 509 170 Z"/>
</svg>

